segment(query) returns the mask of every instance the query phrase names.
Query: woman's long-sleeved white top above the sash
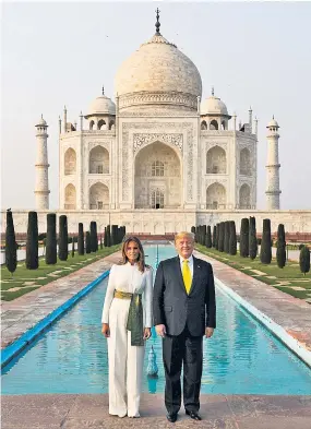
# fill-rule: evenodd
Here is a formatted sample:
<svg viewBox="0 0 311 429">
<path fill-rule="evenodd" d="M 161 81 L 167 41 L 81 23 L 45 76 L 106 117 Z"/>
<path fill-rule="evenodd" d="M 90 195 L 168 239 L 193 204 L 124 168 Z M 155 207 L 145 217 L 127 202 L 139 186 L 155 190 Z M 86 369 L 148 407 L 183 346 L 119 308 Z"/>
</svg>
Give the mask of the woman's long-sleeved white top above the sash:
<svg viewBox="0 0 311 429">
<path fill-rule="evenodd" d="M 109 274 L 106 298 L 103 308 L 101 323 L 109 323 L 109 310 L 115 290 L 142 294 L 145 327 L 153 325 L 153 269 L 142 273 L 137 264 L 112 265 Z"/>
</svg>

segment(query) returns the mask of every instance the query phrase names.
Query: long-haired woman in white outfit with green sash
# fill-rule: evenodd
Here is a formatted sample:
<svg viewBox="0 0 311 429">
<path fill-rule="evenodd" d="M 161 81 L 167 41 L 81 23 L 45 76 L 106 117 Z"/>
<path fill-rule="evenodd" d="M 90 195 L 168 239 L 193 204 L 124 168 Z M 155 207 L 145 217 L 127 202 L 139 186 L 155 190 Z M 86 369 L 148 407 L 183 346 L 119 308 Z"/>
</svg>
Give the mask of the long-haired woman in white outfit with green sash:
<svg viewBox="0 0 311 429">
<path fill-rule="evenodd" d="M 153 270 L 136 237 L 122 245 L 122 262 L 112 265 L 103 309 L 108 338 L 109 414 L 140 417 L 144 343 L 152 335 Z"/>
</svg>

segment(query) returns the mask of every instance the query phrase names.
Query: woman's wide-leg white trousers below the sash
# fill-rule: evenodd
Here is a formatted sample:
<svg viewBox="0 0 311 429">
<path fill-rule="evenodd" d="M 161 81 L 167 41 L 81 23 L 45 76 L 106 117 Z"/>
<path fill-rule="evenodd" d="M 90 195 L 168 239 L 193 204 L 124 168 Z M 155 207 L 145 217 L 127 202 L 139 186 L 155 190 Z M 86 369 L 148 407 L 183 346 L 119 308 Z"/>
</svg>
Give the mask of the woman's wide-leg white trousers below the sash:
<svg viewBox="0 0 311 429">
<path fill-rule="evenodd" d="M 131 332 L 127 331 L 129 308 L 129 299 L 113 298 L 109 310 L 109 414 L 140 417 L 145 347 L 131 346 Z"/>
</svg>

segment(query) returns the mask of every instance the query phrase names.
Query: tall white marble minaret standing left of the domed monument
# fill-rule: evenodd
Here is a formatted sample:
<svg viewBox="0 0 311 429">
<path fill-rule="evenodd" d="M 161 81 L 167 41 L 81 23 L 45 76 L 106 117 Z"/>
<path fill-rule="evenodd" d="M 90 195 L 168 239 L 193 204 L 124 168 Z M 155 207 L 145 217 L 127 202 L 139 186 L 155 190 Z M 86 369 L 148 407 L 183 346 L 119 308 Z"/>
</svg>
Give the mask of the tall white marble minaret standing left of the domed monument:
<svg viewBox="0 0 311 429">
<path fill-rule="evenodd" d="M 37 159 L 36 159 L 36 208 L 48 210 L 49 208 L 49 180 L 48 180 L 48 124 L 41 119 L 36 124 L 37 129 Z"/>
</svg>

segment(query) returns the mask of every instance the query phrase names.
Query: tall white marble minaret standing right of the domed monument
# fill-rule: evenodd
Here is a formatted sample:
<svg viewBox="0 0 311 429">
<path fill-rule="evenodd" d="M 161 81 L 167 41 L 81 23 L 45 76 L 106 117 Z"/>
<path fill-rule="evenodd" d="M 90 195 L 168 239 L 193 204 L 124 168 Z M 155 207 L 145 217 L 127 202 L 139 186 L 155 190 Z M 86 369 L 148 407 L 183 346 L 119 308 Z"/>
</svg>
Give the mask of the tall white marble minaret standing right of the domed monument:
<svg viewBox="0 0 311 429">
<path fill-rule="evenodd" d="M 279 210 L 279 167 L 278 164 L 278 123 L 276 120 L 267 124 L 267 163 L 266 163 L 266 208 Z"/>
</svg>

